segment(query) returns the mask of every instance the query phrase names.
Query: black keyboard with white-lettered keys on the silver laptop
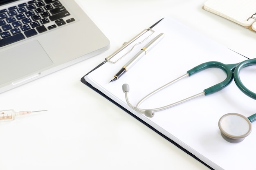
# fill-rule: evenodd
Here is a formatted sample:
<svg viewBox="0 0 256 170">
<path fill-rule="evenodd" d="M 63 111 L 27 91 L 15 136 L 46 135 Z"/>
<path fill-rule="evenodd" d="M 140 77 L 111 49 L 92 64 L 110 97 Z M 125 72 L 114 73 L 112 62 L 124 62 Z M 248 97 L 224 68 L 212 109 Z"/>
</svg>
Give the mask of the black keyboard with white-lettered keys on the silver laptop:
<svg viewBox="0 0 256 170">
<path fill-rule="evenodd" d="M 0 9 L 0 47 L 74 21 L 58 0 L 29 0 Z"/>
</svg>

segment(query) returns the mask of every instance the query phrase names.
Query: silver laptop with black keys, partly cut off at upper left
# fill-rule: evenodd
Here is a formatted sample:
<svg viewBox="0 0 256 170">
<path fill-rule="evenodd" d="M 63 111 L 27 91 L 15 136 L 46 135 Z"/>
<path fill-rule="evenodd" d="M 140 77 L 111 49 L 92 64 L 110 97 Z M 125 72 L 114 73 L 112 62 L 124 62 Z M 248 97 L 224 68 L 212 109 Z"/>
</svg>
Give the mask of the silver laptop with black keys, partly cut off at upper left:
<svg viewBox="0 0 256 170">
<path fill-rule="evenodd" d="M 75 0 L 0 0 L 0 93 L 102 53 L 109 44 Z"/>
</svg>

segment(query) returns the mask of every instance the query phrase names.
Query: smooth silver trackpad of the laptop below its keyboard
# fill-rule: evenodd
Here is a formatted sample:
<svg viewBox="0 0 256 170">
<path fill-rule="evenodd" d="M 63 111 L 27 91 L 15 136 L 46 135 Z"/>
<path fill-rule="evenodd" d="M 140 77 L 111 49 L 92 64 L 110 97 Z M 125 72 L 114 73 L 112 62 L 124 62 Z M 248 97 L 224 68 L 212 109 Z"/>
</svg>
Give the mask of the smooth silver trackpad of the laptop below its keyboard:
<svg viewBox="0 0 256 170">
<path fill-rule="evenodd" d="M 0 52 L 0 84 L 25 78 L 53 62 L 37 40 Z"/>
</svg>

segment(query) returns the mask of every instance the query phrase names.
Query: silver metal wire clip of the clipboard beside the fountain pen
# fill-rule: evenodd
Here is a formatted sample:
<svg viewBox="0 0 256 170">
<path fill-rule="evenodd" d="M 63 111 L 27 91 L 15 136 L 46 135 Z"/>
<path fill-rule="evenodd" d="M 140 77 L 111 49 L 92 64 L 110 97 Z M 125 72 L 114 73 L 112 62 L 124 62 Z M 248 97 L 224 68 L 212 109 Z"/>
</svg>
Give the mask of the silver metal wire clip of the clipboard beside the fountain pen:
<svg viewBox="0 0 256 170">
<path fill-rule="evenodd" d="M 128 45 L 132 44 L 133 42 L 135 42 L 138 38 L 140 38 L 142 35 L 144 35 L 145 33 L 147 33 L 148 31 L 151 31 L 150 35 L 148 35 L 144 40 L 142 40 L 141 42 L 137 42 L 135 45 L 132 46 L 132 48 L 125 53 L 124 55 L 122 55 L 120 58 L 118 58 L 115 61 L 112 61 L 111 59 L 113 57 L 115 57 L 115 55 L 117 55 L 119 52 L 121 52 L 122 50 L 124 50 Z M 139 33 L 138 35 L 136 35 L 134 38 L 132 38 L 130 41 L 125 42 L 119 49 L 117 49 L 114 53 L 112 53 L 111 55 L 109 55 L 108 57 L 106 57 L 105 61 L 111 62 L 113 64 L 115 64 L 116 62 L 118 62 L 119 60 L 121 60 L 122 58 L 124 58 L 128 53 L 130 53 L 137 45 L 143 43 L 144 41 L 146 41 L 155 31 L 153 29 L 144 29 L 143 31 L 141 31 L 141 33 Z"/>
</svg>

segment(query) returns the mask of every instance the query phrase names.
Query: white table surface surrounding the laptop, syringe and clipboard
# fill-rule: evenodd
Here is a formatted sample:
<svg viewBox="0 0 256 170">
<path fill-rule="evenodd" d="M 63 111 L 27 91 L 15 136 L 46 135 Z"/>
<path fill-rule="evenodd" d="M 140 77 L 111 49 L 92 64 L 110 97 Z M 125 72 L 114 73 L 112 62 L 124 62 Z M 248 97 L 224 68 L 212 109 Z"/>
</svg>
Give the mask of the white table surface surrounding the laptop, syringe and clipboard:
<svg viewBox="0 0 256 170">
<path fill-rule="evenodd" d="M 204 0 L 77 2 L 109 38 L 110 49 L 0 94 L 1 110 L 48 110 L 0 122 L 0 170 L 208 170 L 80 79 L 164 17 L 251 58 L 256 33 L 204 11 Z"/>
</svg>

